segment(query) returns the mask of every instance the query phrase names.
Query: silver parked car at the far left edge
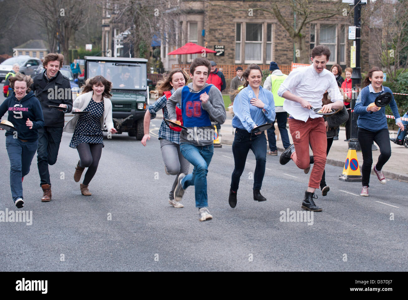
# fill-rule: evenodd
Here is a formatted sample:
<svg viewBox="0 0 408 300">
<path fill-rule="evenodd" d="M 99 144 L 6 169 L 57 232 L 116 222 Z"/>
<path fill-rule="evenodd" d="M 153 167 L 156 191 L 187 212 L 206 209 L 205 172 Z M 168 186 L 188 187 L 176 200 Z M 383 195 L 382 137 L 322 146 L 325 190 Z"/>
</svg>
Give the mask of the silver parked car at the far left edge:
<svg viewBox="0 0 408 300">
<path fill-rule="evenodd" d="M 20 73 L 30 75 L 31 77 L 40 73 L 42 69 L 42 62 L 39 58 L 27 55 L 7 58 L 7 60 L 0 64 L 0 81 L 6 79 L 7 73 L 13 69 L 13 64 L 16 63 L 20 65 Z"/>
</svg>

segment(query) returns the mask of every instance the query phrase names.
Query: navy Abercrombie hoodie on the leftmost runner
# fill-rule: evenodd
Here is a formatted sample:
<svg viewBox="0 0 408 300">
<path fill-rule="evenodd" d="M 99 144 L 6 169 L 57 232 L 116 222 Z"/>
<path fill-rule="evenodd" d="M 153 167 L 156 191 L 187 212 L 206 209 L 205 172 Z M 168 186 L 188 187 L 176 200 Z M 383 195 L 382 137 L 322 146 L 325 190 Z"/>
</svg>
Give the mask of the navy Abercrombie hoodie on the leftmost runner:
<svg viewBox="0 0 408 300">
<path fill-rule="evenodd" d="M 29 91 L 20 101 L 16 98 L 16 93 L 12 95 L 0 105 L 0 118 L 4 116 L 6 111 L 9 111 L 9 120 L 17 129 L 17 137 L 20 140 L 30 142 L 38 140 L 38 129 L 44 127 L 44 116 L 40 101 L 34 96 L 33 91 Z M 26 125 L 27 118 L 33 122 L 33 128 L 30 129 Z M 13 132 L 7 130 L 6 136 L 12 136 Z"/>
</svg>

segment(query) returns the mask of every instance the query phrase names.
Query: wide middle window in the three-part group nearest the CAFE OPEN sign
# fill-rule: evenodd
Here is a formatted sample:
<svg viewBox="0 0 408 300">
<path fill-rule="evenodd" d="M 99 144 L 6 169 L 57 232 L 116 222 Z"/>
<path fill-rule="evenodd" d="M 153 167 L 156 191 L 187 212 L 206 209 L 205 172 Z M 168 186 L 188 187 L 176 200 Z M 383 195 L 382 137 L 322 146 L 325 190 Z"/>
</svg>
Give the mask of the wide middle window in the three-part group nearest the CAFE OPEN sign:
<svg viewBox="0 0 408 300">
<path fill-rule="evenodd" d="M 262 24 L 246 23 L 245 63 L 262 63 Z"/>
</svg>

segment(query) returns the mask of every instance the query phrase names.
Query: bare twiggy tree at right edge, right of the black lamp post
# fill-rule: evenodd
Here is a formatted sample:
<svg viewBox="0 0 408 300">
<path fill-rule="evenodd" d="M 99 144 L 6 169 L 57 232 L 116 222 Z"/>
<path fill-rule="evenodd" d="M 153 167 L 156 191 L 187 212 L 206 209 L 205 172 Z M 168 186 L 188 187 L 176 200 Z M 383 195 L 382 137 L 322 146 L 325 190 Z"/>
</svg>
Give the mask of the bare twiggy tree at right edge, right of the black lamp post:
<svg viewBox="0 0 408 300">
<path fill-rule="evenodd" d="M 377 0 L 366 7 L 361 38 L 390 80 L 408 67 L 408 1 Z"/>
</svg>

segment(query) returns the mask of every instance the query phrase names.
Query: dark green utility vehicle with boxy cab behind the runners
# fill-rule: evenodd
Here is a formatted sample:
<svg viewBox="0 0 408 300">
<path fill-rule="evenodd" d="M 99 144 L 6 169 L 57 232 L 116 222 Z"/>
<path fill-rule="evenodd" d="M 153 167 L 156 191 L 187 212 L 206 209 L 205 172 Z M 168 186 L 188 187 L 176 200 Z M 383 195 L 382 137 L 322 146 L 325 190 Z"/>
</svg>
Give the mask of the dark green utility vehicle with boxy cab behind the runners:
<svg viewBox="0 0 408 300">
<path fill-rule="evenodd" d="M 112 82 L 112 117 L 118 133 L 127 132 L 142 140 L 143 118 L 149 105 L 144 58 L 85 56 L 84 79 L 102 75 Z M 126 73 L 126 78 L 122 78 Z"/>
</svg>

